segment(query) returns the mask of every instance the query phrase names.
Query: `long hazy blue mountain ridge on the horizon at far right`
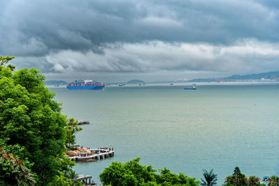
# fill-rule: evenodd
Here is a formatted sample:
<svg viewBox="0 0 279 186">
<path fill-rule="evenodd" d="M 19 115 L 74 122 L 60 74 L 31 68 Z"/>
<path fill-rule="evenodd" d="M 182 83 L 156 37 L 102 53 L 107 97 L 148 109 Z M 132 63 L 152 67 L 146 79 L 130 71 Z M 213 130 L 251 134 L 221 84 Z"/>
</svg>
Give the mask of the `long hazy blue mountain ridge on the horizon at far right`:
<svg viewBox="0 0 279 186">
<path fill-rule="evenodd" d="M 232 75 L 229 77 L 192 79 L 190 82 L 222 82 L 222 81 L 244 81 L 244 80 L 276 80 L 279 81 L 279 72 L 265 72 L 252 75 Z"/>
</svg>

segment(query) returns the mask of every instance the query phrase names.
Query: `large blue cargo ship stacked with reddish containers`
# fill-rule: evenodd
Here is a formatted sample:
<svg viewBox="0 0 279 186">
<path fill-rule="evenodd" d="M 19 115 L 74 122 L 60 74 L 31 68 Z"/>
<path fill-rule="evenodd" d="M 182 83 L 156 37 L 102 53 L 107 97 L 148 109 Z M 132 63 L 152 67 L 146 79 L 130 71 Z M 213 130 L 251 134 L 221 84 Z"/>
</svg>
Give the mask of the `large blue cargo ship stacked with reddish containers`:
<svg viewBox="0 0 279 186">
<path fill-rule="evenodd" d="M 86 79 L 83 82 L 75 80 L 75 82 L 67 85 L 70 90 L 103 90 L 105 84 L 94 82 L 93 80 Z"/>
</svg>

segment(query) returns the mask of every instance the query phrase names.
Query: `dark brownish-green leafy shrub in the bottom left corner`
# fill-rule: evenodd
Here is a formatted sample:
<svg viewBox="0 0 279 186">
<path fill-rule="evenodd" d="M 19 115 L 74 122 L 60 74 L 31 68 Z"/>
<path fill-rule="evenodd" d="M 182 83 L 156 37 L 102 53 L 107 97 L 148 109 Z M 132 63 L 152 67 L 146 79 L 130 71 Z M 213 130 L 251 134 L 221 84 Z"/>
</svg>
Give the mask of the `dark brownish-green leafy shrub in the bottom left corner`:
<svg viewBox="0 0 279 186">
<path fill-rule="evenodd" d="M 35 176 L 24 162 L 0 147 L 0 185 L 35 184 Z"/>
</svg>

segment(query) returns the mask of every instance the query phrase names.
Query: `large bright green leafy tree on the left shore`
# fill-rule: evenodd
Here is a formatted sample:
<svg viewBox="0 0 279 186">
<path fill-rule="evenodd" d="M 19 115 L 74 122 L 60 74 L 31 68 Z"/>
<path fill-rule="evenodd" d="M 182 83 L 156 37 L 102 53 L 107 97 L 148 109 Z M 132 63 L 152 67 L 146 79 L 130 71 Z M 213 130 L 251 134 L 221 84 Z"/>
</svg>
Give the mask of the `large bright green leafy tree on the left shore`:
<svg viewBox="0 0 279 186">
<path fill-rule="evenodd" d="M 1 56 L 0 139 L 6 139 L 7 146 L 21 147 L 17 156 L 33 164 L 31 171 L 38 176 L 38 185 L 55 183 L 58 172 L 73 165 L 64 157 L 67 132 L 73 127 L 68 127 L 61 104 L 53 100 L 55 94 L 45 87 L 39 70 L 13 71 L 3 66 L 10 59 L 13 57 Z"/>
</svg>

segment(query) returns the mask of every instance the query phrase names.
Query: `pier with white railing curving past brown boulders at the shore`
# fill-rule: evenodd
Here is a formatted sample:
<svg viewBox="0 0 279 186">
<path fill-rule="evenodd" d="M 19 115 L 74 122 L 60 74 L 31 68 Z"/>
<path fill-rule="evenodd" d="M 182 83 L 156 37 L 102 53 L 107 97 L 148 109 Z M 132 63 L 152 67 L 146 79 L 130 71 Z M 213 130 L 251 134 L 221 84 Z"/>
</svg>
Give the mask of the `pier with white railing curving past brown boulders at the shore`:
<svg viewBox="0 0 279 186">
<path fill-rule="evenodd" d="M 92 155 L 88 155 L 86 152 L 80 152 L 78 153 L 78 156 L 72 156 L 69 157 L 71 160 L 74 160 L 76 162 L 82 162 L 84 160 L 104 160 L 107 157 L 113 157 L 114 156 L 114 148 L 89 148 L 87 150 L 90 150 Z"/>
</svg>

